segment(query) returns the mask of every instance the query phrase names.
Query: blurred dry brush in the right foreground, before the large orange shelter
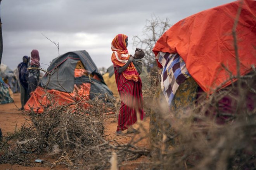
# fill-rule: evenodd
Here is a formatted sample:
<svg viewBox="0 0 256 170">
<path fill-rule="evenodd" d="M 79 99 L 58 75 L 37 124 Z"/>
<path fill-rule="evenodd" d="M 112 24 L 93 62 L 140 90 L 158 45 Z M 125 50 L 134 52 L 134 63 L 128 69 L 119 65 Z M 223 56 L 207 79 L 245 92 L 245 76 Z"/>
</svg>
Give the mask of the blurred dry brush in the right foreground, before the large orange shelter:
<svg viewBox="0 0 256 170">
<path fill-rule="evenodd" d="M 173 113 L 159 102 L 155 112 L 161 136 L 152 143 L 151 163 L 145 169 L 255 169 L 256 109 L 249 109 L 246 97 L 250 92 L 255 101 L 256 71 L 240 80 L 240 86 L 236 82 L 201 96 L 193 109 Z M 232 112 L 218 103 L 227 95 L 235 101 Z M 222 124 L 216 122 L 220 117 L 225 117 Z"/>
</svg>

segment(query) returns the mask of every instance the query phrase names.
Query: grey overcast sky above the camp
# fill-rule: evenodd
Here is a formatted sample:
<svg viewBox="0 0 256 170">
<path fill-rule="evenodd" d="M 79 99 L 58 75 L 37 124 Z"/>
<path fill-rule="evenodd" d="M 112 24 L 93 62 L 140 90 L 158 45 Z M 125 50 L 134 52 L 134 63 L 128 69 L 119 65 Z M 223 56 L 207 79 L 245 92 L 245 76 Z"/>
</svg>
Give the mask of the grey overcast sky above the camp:
<svg viewBox="0 0 256 170">
<path fill-rule="evenodd" d="M 40 54 L 42 68 L 60 55 L 86 50 L 98 67 L 111 63 L 111 41 L 117 34 L 142 36 L 152 15 L 170 24 L 192 14 L 234 0 L 2 0 L 2 63 L 15 69 L 32 49 Z"/>
</svg>

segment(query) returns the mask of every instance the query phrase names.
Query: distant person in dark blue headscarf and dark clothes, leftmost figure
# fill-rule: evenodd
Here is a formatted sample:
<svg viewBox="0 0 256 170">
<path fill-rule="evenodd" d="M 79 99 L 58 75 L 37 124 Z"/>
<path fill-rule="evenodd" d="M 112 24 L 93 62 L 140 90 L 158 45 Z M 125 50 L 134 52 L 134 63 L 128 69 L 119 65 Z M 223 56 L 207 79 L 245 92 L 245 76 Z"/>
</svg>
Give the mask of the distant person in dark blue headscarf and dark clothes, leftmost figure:
<svg viewBox="0 0 256 170">
<path fill-rule="evenodd" d="M 24 105 L 28 101 L 28 63 L 29 57 L 23 56 L 23 62 L 19 63 L 19 85 L 21 90 L 21 110 L 24 110 Z"/>
</svg>

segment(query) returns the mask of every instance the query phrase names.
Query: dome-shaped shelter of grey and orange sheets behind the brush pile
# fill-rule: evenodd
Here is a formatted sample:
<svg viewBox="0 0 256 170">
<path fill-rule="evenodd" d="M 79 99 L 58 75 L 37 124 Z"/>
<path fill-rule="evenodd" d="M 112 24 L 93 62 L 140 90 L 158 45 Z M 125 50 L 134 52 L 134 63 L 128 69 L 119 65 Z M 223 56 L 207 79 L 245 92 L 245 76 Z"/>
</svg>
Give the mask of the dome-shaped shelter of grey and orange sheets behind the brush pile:
<svg viewBox="0 0 256 170">
<path fill-rule="evenodd" d="M 25 110 L 33 108 L 40 114 L 44 106 L 73 104 L 76 101 L 82 107 L 88 107 L 87 100 L 113 95 L 85 50 L 68 52 L 53 59 L 47 71 L 39 87 L 31 92 Z"/>
</svg>

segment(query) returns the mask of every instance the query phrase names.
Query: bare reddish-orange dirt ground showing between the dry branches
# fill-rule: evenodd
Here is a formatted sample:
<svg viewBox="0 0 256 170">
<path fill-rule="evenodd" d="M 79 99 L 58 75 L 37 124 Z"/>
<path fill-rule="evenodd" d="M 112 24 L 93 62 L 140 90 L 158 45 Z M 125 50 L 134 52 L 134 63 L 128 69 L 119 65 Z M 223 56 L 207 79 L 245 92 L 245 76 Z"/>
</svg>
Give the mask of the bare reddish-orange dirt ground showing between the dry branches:
<svg viewBox="0 0 256 170">
<path fill-rule="evenodd" d="M 26 118 L 29 116 L 19 110 L 21 107 L 21 102 L 20 102 L 20 94 L 19 93 L 14 93 L 14 103 L 10 104 L 0 104 L 0 128 L 2 130 L 3 136 L 6 136 L 8 133 L 13 133 L 15 130 L 21 128 L 22 124 L 26 121 Z M 111 117 L 111 116 L 110 116 Z M 146 129 L 145 132 L 142 132 L 140 134 L 129 134 L 122 136 L 121 139 L 119 136 L 115 135 L 116 131 L 116 126 L 117 122 L 115 121 L 114 118 L 108 118 L 106 119 L 106 133 L 105 136 L 106 139 L 108 140 L 113 140 L 113 139 L 118 139 L 116 140 L 118 143 L 124 144 L 129 142 L 132 138 L 140 138 L 144 135 L 148 134 L 149 130 L 149 117 L 146 117 L 146 119 L 142 122 L 143 127 Z M 138 126 L 135 125 L 135 128 Z M 125 132 L 125 131 L 124 131 Z M 126 133 L 126 132 L 125 132 Z M 149 138 L 144 138 L 142 139 L 139 143 L 137 143 L 137 146 L 140 148 L 149 148 Z M 1 154 L 1 153 L 0 153 Z M 43 159 L 47 160 L 50 162 L 54 162 L 55 160 L 52 160 L 50 156 L 43 156 L 42 158 L 38 159 Z M 139 158 L 135 162 L 140 162 L 143 161 L 144 158 Z M 46 167 L 47 165 L 41 164 L 41 163 L 31 163 L 31 167 L 25 167 L 22 165 L 18 164 L 0 164 L 0 170 L 50 170 L 50 169 L 55 169 L 55 170 L 67 170 L 68 168 L 65 167 L 64 165 L 57 165 L 54 168 L 51 167 Z M 135 169 L 135 167 L 129 165 L 126 168 L 121 168 L 121 169 Z"/>
</svg>

